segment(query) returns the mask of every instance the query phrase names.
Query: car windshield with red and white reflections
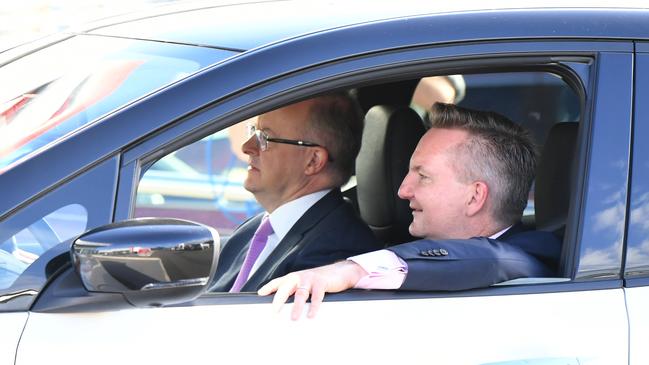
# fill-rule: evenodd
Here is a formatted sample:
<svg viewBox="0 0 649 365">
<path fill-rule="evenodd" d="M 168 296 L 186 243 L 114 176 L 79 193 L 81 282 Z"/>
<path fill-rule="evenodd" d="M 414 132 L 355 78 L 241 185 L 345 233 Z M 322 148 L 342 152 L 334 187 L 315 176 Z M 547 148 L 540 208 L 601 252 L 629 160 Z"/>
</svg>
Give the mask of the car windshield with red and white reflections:
<svg viewBox="0 0 649 365">
<path fill-rule="evenodd" d="M 0 173 L 133 100 L 233 52 L 76 36 L 0 68 Z"/>
</svg>

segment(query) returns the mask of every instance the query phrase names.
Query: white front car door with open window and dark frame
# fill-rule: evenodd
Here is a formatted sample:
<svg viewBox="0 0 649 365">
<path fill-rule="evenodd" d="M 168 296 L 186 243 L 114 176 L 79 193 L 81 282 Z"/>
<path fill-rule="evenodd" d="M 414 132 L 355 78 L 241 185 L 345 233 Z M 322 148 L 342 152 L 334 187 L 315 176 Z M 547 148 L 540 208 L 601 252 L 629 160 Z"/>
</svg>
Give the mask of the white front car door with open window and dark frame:
<svg viewBox="0 0 649 365">
<path fill-rule="evenodd" d="M 584 91 L 578 194 L 566 232 L 565 278 L 459 293 L 350 291 L 330 296 L 317 318 L 297 322 L 289 320 L 287 306 L 275 314 L 270 298 L 253 293 L 208 293 L 170 307 L 125 309 L 101 306 L 101 294 L 91 295 L 94 302 L 75 302 L 75 291 L 66 292 L 72 288 L 57 279 L 48 288 L 51 295 L 32 308 L 16 364 L 626 362 L 628 324 L 620 278 L 623 231 L 618 224 L 625 212 L 617 208 L 626 204 L 633 45 L 520 41 L 422 47 L 422 42 L 431 42 L 428 33 L 413 27 L 427 28 L 429 23 L 418 21 L 289 41 L 212 68 L 169 91 L 206 90 L 214 80 L 238 79 L 232 84 L 222 82 L 220 89 L 203 95 L 213 102 L 208 107 L 188 110 L 195 113 L 123 153 L 116 219 L 131 214 L 138 177 L 148 162 L 174 145 L 274 106 L 331 89 L 416 75 L 424 69 L 561 65 L 576 75 Z M 379 30 L 386 34 L 395 30 L 398 36 L 368 38 L 357 48 L 339 43 Z M 401 48 L 391 49 L 396 45 Z M 287 54 L 300 56 L 286 63 L 276 61 Z M 268 81 L 255 84 L 246 79 L 251 76 L 245 71 L 259 64 L 269 67 L 256 70 L 255 75 L 265 72 L 268 77 L 263 80 Z M 312 64 L 319 66 L 309 67 Z M 254 87 L 241 87 L 246 82 Z M 236 92 L 228 93 L 228 87 Z M 155 107 L 169 95 L 150 100 L 150 105 Z M 117 116 L 128 117 L 128 113 Z M 621 174 L 611 174 L 612 167 Z"/>
</svg>

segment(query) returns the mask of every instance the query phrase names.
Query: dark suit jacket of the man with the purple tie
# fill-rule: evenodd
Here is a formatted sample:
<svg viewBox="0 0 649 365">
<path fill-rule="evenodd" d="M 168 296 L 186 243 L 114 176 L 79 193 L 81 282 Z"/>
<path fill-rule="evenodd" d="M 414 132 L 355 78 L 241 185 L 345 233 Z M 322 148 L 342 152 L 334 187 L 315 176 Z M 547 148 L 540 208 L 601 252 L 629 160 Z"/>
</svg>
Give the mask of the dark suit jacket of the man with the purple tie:
<svg viewBox="0 0 649 365">
<path fill-rule="evenodd" d="M 248 246 L 263 214 L 239 226 L 221 250 L 211 291 L 228 291 L 243 265 Z M 334 189 L 295 222 L 284 239 L 255 271 L 241 291 L 297 270 L 327 265 L 382 248 L 372 231 Z"/>
</svg>

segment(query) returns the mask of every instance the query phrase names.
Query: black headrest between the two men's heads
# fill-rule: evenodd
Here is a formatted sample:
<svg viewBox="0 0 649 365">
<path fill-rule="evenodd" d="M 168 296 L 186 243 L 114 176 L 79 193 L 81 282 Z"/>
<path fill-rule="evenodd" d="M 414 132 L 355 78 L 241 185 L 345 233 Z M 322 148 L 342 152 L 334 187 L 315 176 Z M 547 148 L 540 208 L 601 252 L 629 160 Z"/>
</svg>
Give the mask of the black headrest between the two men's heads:
<svg viewBox="0 0 649 365">
<path fill-rule="evenodd" d="M 377 105 L 365 116 L 363 143 L 356 160 L 358 208 L 363 220 L 386 244 L 412 240 L 408 201 L 397 196 L 408 164 L 425 133 L 419 115 L 406 106 Z"/>
</svg>

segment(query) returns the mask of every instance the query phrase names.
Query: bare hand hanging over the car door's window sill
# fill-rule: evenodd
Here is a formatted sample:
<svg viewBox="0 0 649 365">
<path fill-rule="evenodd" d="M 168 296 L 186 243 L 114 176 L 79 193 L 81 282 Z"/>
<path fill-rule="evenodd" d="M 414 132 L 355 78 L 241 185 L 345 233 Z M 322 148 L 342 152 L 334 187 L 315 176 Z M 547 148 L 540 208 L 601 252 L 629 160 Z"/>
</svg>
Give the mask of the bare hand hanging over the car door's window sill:
<svg viewBox="0 0 649 365">
<path fill-rule="evenodd" d="M 338 293 L 353 288 L 367 272 L 353 261 L 341 261 L 335 264 L 317 267 L 315 269 L 296 271 L 280 278 L 271 280 L 259 289 L 257 294 L 269 295 L 275 293 L 273 307 L 279 312 L 288 298 L 295 294 L 291 319 L 297 320 L 302 314 L 302 308 L 309 295 L 311 306 L 307 316 L 315 317 L 325 293 Z"/>
</svg>

